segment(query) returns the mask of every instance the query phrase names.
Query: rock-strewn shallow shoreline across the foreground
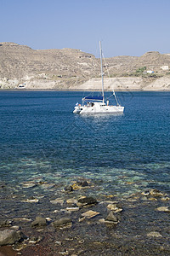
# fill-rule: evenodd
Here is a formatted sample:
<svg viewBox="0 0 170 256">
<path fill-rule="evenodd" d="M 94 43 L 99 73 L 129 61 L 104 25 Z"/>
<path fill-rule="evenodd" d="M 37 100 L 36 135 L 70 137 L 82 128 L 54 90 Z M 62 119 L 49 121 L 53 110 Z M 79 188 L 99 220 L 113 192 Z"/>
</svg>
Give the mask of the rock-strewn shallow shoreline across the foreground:
<svg viewBox="0 0 170 256">
<path fill-rule="evenodd" d="M 29 181 L 31 193 L 5 196 L 0 221 L 0 255 L 169 255 L 170 198 L 157 189 L 117 197 L 102 195 L 93 181 L 65 187 Z M 24 190 L 23 190 L 24 193 Z"/>
</svg>

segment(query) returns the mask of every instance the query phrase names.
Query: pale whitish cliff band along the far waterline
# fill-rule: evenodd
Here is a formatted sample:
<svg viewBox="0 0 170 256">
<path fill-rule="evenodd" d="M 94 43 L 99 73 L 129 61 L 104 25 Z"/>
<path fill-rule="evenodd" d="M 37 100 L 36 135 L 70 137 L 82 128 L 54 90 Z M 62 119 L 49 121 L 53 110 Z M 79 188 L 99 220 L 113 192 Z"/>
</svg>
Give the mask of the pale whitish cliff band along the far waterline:
<svg viewBox="0 0 170 256">
<path fill-rule="evenodd" d="M 24 79 L 24 85 L 20 85 L 19 80 L 0 80 L 0 90 L 101 90 L 101 79 L 88 79 L 87 81 L 75 81 L 63 79 L 54 81 L 53 79 Z M 105 90 L 139 90 L 139 91 L 169 91 L 170 76 L 157 79 L 144 79 L 140 77 L 117 77 L 105 78 Z"/>
</svg>

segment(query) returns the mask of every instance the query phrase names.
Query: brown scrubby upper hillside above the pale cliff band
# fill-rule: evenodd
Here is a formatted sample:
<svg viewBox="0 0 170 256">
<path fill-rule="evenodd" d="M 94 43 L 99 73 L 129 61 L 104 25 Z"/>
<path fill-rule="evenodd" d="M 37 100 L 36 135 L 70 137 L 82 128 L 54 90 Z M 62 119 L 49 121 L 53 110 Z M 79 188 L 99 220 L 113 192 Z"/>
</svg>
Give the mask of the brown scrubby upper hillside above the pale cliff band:
<svg viewBox="0 0 170 256">
<path fill-rule="evenodd" d="M 10 45 L 16 47 L 12 48 Z M 2 55 L 0 59 L 2 88 L 6 86 L 13 88 L 17 86 L 16 81 L 20 80 L 20 84 L 26 81 L 27 88 L 33 86 L 29 84 L 34 84 L 32 82 L 36 81 L 36 84 L 37 82 L 43 84 L 44 88 L 50 87 L 51 83 L 56 89 L 64 87 L 66 89 L 70 88 L 71 84 L 78 86 L 89 79 L 100 78 L 100 60 L 94 55 L 80 53 L 78 49 L 36 50 L 20 44 L 2 43 L 0 54 Z M 106 62 L 105 67 L 107 66 L 111 78 L 139 77 L 151 81 L 170 75 L 168 70 L 162 70 L 164 65 L 170 67 L 170 55 L 157 55 L 156 52 L 140 57 L 117 56 L 107 58 Z M 154 70 L 154 73 L 147 73 L 149 70 Z M 108 77 L 105 70 L 105 78 Z"/>
</svg>

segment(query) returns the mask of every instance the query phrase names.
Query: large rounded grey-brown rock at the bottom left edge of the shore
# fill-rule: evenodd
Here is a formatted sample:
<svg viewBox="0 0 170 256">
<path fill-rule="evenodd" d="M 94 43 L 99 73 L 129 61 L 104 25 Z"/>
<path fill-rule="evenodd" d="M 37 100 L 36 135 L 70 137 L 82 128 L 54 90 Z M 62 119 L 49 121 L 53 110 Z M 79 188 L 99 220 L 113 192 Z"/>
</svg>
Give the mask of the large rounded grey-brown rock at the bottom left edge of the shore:
<svg viewBox="0 0 170 256">
<path fill-rule="evenodd" d="M 20 241 L 23 238 L 23 234 L 16 230 L 3 230 L 0 231 L 0 246 L 11 245 L 16 241 Z"/>
</svg>

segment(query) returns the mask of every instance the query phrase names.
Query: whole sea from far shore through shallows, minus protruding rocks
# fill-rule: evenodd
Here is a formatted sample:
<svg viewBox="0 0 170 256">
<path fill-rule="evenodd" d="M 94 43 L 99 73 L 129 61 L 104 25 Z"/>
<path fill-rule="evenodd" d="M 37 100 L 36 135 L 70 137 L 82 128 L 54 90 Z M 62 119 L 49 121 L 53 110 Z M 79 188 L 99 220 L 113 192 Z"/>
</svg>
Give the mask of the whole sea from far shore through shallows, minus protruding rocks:
<svg viewBox="0 0 170 256">
<path fill-rule="evenodd" d="M 121 115 L 72 113 L 82 96 L 0 91 L 1 220 L 28 237 L 41 232 L 40 247 L 28 244 L 23 255 L 70 248 L 76 255 L 169 255 L 170 92 L 117 92 Z M 65 192 L 83 180 L 88 187 Z M 147 196 L 151 189 L 161 195 Z M 67 207 L 68 199 L 82 196 L 99 204 L 90 207 L 97 217 L 80 222 L 88 209 Z M 115 201 L 122 207 L 119 223 L 102 224 Z M 31 227 L 39 215 L 49 219 L 40 231 Z M 72 220 L 69 232 L 54 229 L 54 220 L 65 216 Z"/>
</svg>

